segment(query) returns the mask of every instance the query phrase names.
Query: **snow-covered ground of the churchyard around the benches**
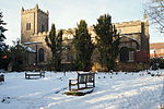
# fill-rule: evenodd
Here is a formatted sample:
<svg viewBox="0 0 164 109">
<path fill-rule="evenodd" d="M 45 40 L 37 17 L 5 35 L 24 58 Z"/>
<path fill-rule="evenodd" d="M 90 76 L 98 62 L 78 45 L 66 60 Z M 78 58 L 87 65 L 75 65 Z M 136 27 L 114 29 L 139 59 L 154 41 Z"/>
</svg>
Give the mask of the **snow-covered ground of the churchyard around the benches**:
<svg viewBox="0 0 164 109">
<path fill-rule="evenodd" d="M 164 71 L 150 71 L 163 73 Z M 46 72 L 46 77 L 25 80 L 25 72 L 3 73 L 0 109 L 160 109 L 164 100 L 164 76 L 139 73 L 96 74 L 96 87 L 85 96 L 67 96 L 75 72 Z"/>
</svg>

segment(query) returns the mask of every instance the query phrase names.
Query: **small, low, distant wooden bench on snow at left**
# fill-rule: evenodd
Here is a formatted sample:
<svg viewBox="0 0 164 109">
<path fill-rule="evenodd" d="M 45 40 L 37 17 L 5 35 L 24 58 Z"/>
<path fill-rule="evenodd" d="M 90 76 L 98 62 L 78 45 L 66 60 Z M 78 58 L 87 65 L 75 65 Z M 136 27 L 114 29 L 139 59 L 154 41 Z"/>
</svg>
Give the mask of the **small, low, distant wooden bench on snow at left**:
<svg viewBox="0 0 164 109">
<path fill-rule="evenodd" d="M 38 73 L 25 73 L 25 78 L 32 78 L 32 77 L 45 77 L 45 72 L 38 72 Z"/>
</svg>

